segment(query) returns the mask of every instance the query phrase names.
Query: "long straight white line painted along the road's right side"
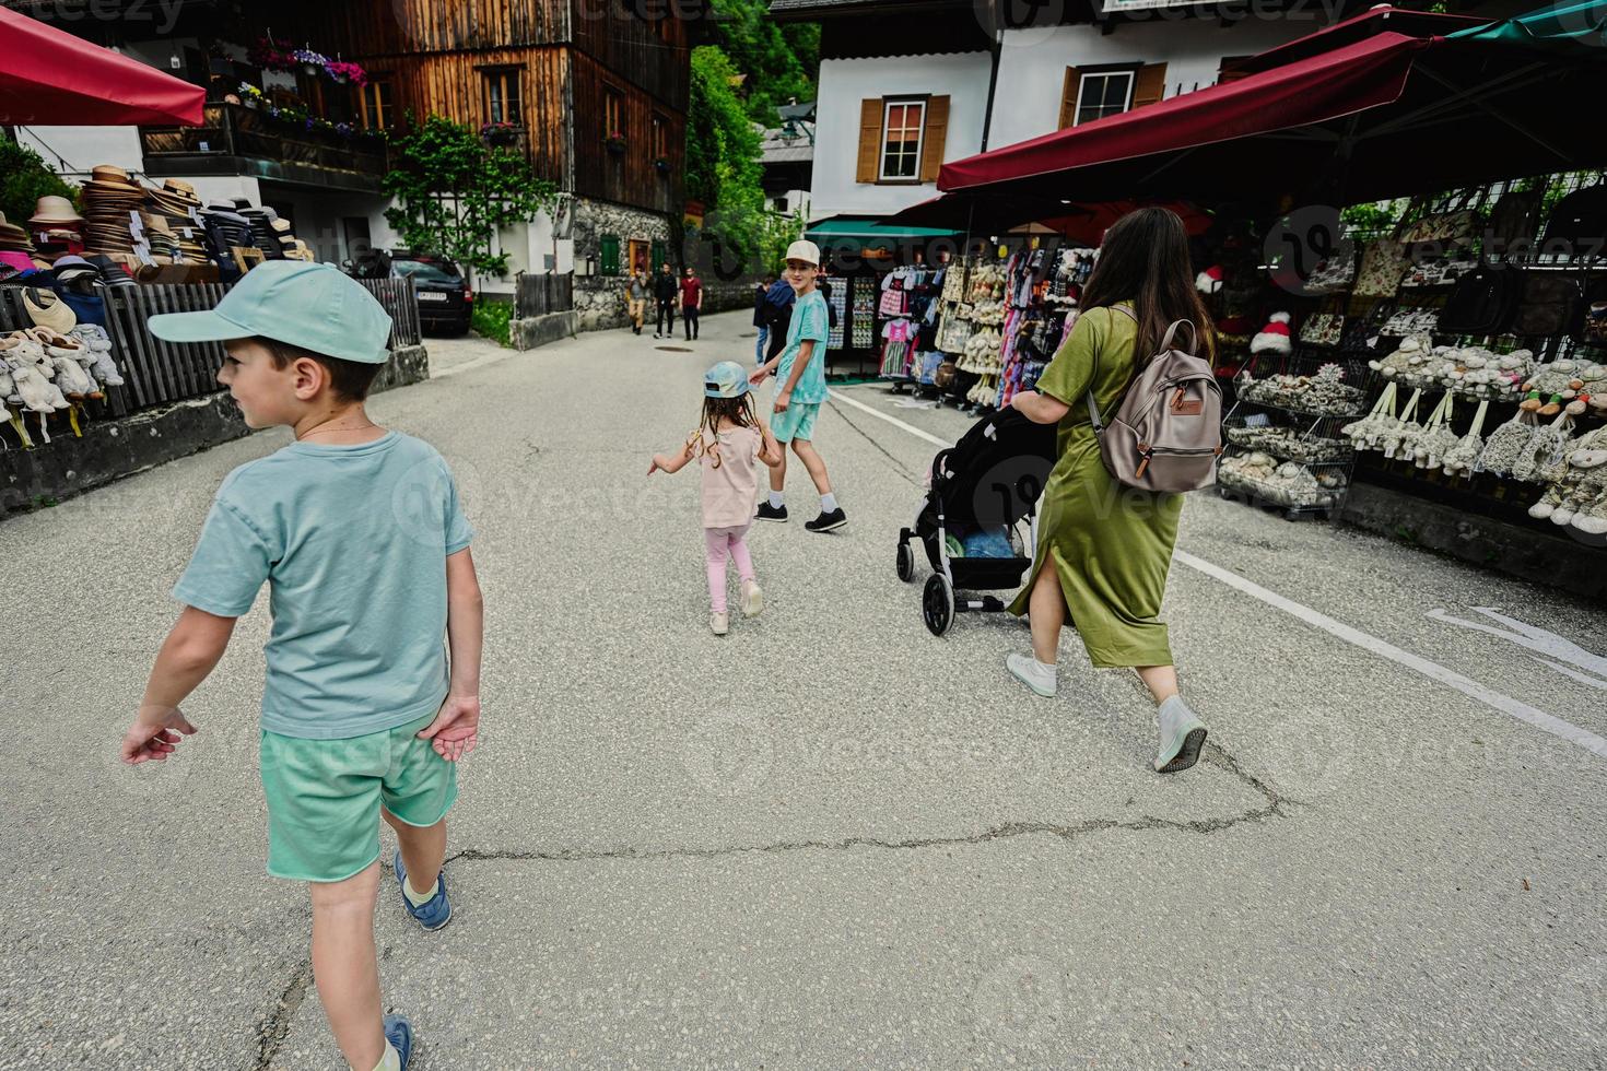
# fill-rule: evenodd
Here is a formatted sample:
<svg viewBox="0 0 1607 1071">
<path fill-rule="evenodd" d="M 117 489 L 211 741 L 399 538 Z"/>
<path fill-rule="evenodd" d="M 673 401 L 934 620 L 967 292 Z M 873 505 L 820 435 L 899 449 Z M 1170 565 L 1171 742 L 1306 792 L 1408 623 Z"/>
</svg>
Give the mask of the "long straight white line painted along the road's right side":
<svg viewBox="0 0 1607 1071">
<path fill-rule="evenodd" d="M 855 409 L 868 413 L 881 421 L 887 421 L 893 427 L 900 427 L 914 435 L 916 438 L 924 438 L 932 445 L 937 446 L 951 445 L 948 440 L 938 438 L 930 432 L 924 432 L 919 427 L 914 427 L 913 424 L 905 424 L 895 416 L 881 413 L 873 406 L 868 406 L 855 398 L 848 398 L 836 390 L 831 392 L 831 397 L 836 398 L 837 401 L 842 401 L 844 405 L 850 405 Z M 1290 617 L 1297 617 L 1306 625 L 1319 628 L 1324 633 L 1345 641 L 1347 644 L 1353 644 L 1369 654 L 1377 655 L 1379 658 L 1387 658 L 1395 665 L 1405 666 L 1414 673 L 1421 673 L 1430 681 L 1437 681 L 1450 689 L 1461 692 L 1462 695 L 1467 695 L 1469 698 L 1475 698 L 1485 707 L 1490 707 L 1491 710 L 1507 715 L 1509 718 L 1515 718 L 1517 721 L 1535 726 L 1536 729 L 1543 729 L 1544 732 L 1549 732 L 1554 737 L 1567 740 L 1575 747 L 1585 748 L 1591 755 L 1596 755 L 1599 758 L 1607 758 L 1607 739 L 1602 739 L 1588 729 L 1580 729 L 1578 726 L 1570 724 L 1560 718 L 1556 718 L 1554 715 L 1548 715 L 1538 707 L 1531 707 L 1522 700 L 1512 698 L 1511 695 L 1504 695 L 1491 687 L 1486 687 L 1478 681 L 1474 681 L 1472 678 L 1466 678 L 1456 670 L 1448 670 L 1446 666 L 1441 666 L 1437 662 L 1430 662 L 1429 658 L 1414 655 L 1413 652 L 1396 647 L 1395 644 L 1379 639 L 1377 636 L 1363 633 L 1358 628 L 1351 628 L 1350 625 L 1345 625 L 1343 621 L 1339 621 L 1323 613 L 1321 610 L 1313 610 L 1311 607 L 1295 602 L 1294 599 L 1286 599 L 1276 591 L 1270 591 L 1252 580 L 1245 580 L 1244 576 L 1234 573 L 1233 570 L 1223 568 L 1221 565 L 1215 565 L 1212 562 L 1207 562 L 1205 559 L 1194 557 L 1188 551 L 1173 551 L 1172 560 L 1181 562 L 1183 565 L 1188 565 L 1194 572 L 1204 573 L 1212 580 L 1218 580 L 1233 588 L 1234 591 L 1239 591 L 1242 594 L 1250 596 L 1252 599 L 1265 602 L 1273 609 L 1282 610 Z M 1552 650 L 1548 654 L 1556 654 L 1556 652 Z"/>
</svg>

